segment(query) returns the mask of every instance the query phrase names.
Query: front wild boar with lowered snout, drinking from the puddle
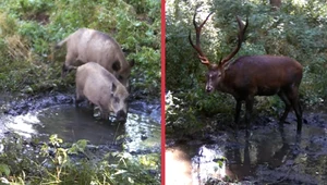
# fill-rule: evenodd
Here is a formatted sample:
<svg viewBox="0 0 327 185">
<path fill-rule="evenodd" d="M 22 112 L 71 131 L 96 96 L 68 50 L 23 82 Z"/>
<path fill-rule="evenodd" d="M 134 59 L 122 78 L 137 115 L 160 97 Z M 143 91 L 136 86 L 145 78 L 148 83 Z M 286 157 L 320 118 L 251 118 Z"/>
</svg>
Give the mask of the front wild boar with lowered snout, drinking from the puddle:
<svg viewBox="0 0 327 185">
<path fill-rule="evenodd" d="M 76 107 L 86 98 L 100 108 L 104 119 L 108 119 L 109 112 L 114 112 L 117 121 L 125 121 L 128 97 L 125 86 L 98 63 L 88 62 L 77 67 Z"/>
</svg>

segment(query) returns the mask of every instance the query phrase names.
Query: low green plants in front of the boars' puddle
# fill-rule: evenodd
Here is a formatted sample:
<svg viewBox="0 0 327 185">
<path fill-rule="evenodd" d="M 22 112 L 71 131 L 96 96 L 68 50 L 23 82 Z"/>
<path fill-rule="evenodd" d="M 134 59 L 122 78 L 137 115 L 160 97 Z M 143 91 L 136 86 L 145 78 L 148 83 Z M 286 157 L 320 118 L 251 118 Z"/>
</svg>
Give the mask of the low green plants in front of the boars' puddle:
<svg viewBox="0 0 327 185">
<path fill-rule="evenodd" d="M 88 150 L 87 140 L 70 145 L 57 135 L 41 148 L 26 146 L 26 140 L 15 135 L 5 138 L 0 155 L 0 173 L 8 184 L 160 184 L 159 157 L 131 156 L 110 152 L 104 157 Z M 78 157 L 86 155 L 86 158 Z"/>
</svg>

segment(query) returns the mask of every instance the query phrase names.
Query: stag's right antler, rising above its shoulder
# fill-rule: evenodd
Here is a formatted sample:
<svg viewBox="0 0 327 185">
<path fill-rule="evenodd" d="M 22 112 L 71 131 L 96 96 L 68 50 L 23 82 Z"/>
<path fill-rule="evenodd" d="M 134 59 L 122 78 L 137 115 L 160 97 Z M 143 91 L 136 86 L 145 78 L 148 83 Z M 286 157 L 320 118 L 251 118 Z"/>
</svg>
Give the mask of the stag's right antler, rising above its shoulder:
<svg viewBox="0 0 327 185">
<path fill-rule="evenodd" d="M 237 15 L 237 21 L 239 24 L 239 34 L 238 34 L 238 46 L 234 48 L 234 50 L 228 54 L 226 58 L 220 60 L 220 64 L 223 65 L 226 62 L 228 62 L 231 58 L 233 58 L 238 51 L 240 50 L 242 42 L 244 40 L 244 34 L 249 25 L 249 18 L 246 17 L 246 24 L 244 25 L 243 22 L 241 21 L 240 16 Z"/>
</svg>

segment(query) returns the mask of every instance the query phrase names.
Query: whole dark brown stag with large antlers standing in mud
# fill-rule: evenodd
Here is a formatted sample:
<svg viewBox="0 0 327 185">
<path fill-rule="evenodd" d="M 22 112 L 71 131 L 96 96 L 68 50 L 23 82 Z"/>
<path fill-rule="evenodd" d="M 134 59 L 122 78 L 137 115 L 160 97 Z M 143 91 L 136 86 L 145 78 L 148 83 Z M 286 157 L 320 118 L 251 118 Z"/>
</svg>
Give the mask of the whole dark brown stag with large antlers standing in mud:
<svg viewBox="0 0 327 185">
<path fill-rule="evenodd" d="M 230 54 L 220 60 L 218 64 L 211 63 L 201 49 L 199 35 L 205 21 L 197 26 L 195 22 L 196 12 L 193 16 L 193 24 L 196 33 L 194 45 L 189 35 L 191 46 L 197 51 L 198 59 L 208 67 L 206 73 L 206 91 L 215 90 L 230 94 L 237 100 L 234 122 L 238 125 L 242 102 L 245 101 L 245 123 L 249 128 L 253 102 L 255 96 L 278 95 L 284 102 L 284 112 L 280 118 L 282 124 L 293 108 L 298 120 L 298 133 L 302 130 L 302 110 L 299 103 L 299 86 L 302 79 L 302 65 L 288 57 L 276 55 L 245 55 L 234 61 L 231 59 L 238 53 L 244 40 L 244 33 L 249 25 L 245 25 L 239 16 L 238 45 Z"/>
</svg>

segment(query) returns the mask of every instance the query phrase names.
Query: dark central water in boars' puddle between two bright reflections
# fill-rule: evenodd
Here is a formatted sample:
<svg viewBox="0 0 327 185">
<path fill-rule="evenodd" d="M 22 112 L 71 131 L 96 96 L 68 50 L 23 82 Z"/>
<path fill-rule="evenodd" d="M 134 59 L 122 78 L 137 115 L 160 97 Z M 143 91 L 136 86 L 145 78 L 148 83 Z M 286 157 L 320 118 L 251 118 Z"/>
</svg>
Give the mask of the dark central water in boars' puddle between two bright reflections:
<svg viewBox="0 0 327 185">
<path fill-rule="evenodd" d="M 37 118 L 41 124 L 34 128 L 45 138 L 58 134 L 65 141 L 87 139 L 94 145 L 106 145 L 113 144 L 117 136 L 124 134 L 123 125 L 96 120 L 90 109 L 58 106 L 40 111 Z"/>
</svg>

